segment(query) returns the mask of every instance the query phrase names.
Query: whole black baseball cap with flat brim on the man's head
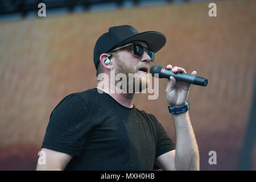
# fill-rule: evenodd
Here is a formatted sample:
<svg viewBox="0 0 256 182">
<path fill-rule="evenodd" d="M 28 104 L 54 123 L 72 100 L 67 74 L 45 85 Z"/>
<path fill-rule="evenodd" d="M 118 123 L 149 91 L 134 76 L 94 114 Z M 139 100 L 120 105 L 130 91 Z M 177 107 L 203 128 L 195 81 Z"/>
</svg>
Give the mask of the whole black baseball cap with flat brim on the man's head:
<svg viewBox="0 0 256 182">
<path fill-rule="evenodd" d="M 102 53 L 108 53 L 120 44 L 134 41 L 145 42 L 151 51 L 158 52 L 166 44 L 166 36 L 156 31 L 139 33 L 129 25 L 110 27 L 109 32 L 101 35 L 94 46 L 93 62 L 95 67 L 97 68 Z"/>
</svg>

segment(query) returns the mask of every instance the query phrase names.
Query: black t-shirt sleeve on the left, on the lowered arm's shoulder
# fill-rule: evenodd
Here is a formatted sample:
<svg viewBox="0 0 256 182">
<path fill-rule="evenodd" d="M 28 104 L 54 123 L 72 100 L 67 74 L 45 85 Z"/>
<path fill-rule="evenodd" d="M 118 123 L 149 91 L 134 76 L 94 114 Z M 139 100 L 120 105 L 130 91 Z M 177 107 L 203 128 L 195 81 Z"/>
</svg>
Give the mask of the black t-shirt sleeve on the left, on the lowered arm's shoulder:
<svg viewBox="0 0 256 182">
<path fill-rule="evenodd" d="M 65 97 L 51 113 L 42 148 L 81 155 L 86 135 L 92 127 L 88 114 L 89 107 L 80 96 Z"/>
</svg>

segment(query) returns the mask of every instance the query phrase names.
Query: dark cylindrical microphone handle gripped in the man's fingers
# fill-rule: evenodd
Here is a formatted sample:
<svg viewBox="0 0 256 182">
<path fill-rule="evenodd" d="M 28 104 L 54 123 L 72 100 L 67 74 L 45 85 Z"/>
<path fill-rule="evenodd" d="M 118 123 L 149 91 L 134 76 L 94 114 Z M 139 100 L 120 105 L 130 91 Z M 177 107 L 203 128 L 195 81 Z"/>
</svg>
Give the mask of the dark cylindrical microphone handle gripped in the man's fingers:
<svg viewBox="0 0 256 182">
<path fill-rule="evenodd" d="M 193 76 L 189 75 L 187 73 L 173 73 L 172 71 L 163 68 L 161 72 L 161 76 L 163 78 L 170 78 L 170 76 L 173 76 L 177 81 L 183 81 L 183 82 L 189 82 L 193 85 L 200 85 L 200 86 L 207 86 L 208 80 L 207 78 L 203 78 L 200 76 Z"/>
</svg>

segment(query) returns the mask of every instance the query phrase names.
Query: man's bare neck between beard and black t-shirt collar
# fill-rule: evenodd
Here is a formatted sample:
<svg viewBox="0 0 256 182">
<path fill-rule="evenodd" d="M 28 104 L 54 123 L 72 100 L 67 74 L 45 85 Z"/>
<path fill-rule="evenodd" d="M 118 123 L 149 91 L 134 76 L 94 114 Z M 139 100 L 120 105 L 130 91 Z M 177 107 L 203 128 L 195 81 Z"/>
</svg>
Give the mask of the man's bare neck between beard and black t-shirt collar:
<svg viewBox="0 0 256 182">
<path fill-rule="evenodd" d="M 122 106 L 128 107 L 128 108 L 133 108 L 133 98 L 134 98 L 134 93 L 122 93 L 117 86 L 109 86 L 109 88 L 104 88 L 102 89 L 100 86 L 97 84 L 97 89 L 100 89 L 104 91 L 105 93 L 109 94 L 112 98 L 114 98 L 115 101 L 117 101 L 119 104 Z M 115 90 L 113 90 L 113 88 Z M 119 91 L 119 92 L 118 92 Z"/>
</svg>

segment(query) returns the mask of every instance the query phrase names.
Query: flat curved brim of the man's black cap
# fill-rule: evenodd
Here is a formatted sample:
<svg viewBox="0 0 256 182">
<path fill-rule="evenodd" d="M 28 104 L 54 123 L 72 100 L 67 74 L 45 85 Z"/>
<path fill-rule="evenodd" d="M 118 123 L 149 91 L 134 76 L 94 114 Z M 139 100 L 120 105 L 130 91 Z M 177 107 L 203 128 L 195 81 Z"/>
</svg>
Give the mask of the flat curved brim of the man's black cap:
<svg viewBox="0 0 256 182">
<path fill-rule="evenodd" d="M 166 44 L 166 36 L 156 31 L 141 32 L 126 40 L 123 40 L 115 46 L 134 41 L 145 42 L 147 43 L 147 46 L 151 49 L 151 51 L 158 52 L 162 47 L 164 47 L 164 44 Z"/>
</svg>

